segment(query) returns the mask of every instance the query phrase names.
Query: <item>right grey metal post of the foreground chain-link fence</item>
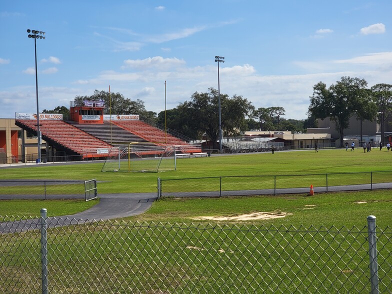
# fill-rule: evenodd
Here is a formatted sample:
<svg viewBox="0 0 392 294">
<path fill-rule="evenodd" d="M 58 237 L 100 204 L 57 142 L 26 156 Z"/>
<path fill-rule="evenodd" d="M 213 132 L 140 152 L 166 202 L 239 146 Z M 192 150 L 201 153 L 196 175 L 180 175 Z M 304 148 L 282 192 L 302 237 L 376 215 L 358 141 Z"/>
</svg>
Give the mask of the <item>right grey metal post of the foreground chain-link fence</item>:
<svg viewBox="0 0 392 294">
<path fill-rule="evenodd" d="M 371 294 L 378 294 L 377 239 L 375 235 L 375 216 L 367 216 L 367 232 L 369 241 L 369 269 Z"/>
</svg>

